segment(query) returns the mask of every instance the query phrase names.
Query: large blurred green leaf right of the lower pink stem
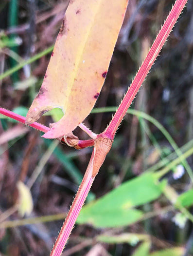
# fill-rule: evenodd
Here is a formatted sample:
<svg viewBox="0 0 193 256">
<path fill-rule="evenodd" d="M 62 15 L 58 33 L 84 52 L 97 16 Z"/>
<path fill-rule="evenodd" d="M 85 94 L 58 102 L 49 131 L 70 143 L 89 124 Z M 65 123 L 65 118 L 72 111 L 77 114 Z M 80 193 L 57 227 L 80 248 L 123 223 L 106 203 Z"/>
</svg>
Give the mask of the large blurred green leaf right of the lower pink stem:
<svg viewBox="0 0 193 256">
<path fill-rule="evenodd" d="M 158 198 L 165 187 L 165 181 L 158 184 L 156 181 L 153 173 L 146 173 L 124 182 L 104 197 L 84 206 L 77 223 L 118 227 L 136 222 L 143 213 L 132 208 Z"/>
</svg>

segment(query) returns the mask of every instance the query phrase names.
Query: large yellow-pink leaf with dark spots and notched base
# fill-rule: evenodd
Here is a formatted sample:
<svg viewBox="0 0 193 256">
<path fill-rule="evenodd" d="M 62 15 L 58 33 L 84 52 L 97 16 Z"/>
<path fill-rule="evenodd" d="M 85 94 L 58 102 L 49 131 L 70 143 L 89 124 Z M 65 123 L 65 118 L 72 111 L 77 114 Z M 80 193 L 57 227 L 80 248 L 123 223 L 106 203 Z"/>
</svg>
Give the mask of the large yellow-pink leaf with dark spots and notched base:
<svg viewBox="0 0 193 256">
<path fill-rule="evenodd" d="M 92 110 L 104 84 L 128 0 L 70 0 L 40 91 L 27 114 L 33 123 L 61 108 L 45 138 L 73 131 Z"/>
</svg>

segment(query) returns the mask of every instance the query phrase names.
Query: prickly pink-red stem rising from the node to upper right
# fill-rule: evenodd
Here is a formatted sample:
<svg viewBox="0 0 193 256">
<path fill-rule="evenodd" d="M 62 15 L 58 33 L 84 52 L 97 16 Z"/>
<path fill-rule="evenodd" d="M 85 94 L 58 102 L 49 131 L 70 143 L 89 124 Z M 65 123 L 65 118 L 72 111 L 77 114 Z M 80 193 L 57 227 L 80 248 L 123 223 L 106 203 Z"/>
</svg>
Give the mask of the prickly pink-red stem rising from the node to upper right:
<svg viewBox="0 0 193 256">
<path fill-rule="evenodd" d="M 114 117 L 112 118 L 111 122 L 105 129 L 105 136 L 108 138 L 114 138 L 115 133 L 126 114 L 127 109 L 131 105 L 133 99 L 135 98 L 136 94 L 138 93 L 142 82 L 144 81 L 145 77 L 147 76 L 148 72 L 150 71 L 154 61 L 158 57 L 158 53 L 160 52 L 162 46 L 164 45 L 167 37 L 169 36 L 172 28 L 175 25 L 176 20 L 178 19 L 180 13 L 182 12 L 187 0 L 176 0 L 175 5 L 173 6 L 168 18 L 164 22 L 159 34 L 154 41 L 147 57 L 145 58 L 144 62 L 140 66 L 140 69 L 133 80 L 131 86 L 129 87 L 127 93 L 125 94 L 123 101 L 121 102 L 117 112 L 115 113 Z"/>
</svg>

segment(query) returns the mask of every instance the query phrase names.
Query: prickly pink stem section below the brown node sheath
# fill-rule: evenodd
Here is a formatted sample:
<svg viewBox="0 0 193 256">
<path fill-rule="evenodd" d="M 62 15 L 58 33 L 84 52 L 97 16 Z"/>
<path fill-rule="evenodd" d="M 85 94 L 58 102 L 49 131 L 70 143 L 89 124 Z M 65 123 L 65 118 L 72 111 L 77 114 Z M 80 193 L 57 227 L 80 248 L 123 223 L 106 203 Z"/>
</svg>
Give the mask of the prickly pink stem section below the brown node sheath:
<svg viewBox="0 0 193 256">
<path fill-rule="evenodd" d="M 94 150 L 93 150 L 94 152 Z M 95 177 L 92 177 L 92 161 L 94 157 L 94 153 L 92 152 L 92 156 L 90 158 L 87 171 L 85 176 L 81 182 L 81 185 L 78 189 L 76 197 L 70 207 L 70 211 L 68 213 L 67 218 L 62 226 L 62 229 L 59 233 L 59 236 L 54 244 L 53 250 L 50 256 L 60 256 L 66 242 L 71 234 L 72 228 L 76 222 L 76 219 L 82 209 L 82 206 L 87 198 L 88 192 L 92 186 Z"/>
</svg>

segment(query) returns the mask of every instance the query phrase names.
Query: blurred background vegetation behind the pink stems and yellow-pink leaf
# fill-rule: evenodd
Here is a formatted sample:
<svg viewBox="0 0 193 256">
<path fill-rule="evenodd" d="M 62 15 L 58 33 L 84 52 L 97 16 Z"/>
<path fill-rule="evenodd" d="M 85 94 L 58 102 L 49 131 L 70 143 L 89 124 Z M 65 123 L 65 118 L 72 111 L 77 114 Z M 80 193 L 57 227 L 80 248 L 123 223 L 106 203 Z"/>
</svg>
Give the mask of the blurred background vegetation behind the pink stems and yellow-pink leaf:
<svg viewBox="0 0 193 256">
<path fill-rule="evenodd" d="M 110 121 L 173 4 L 129 1 L 105 85 L 84 121 L 95 133 Z M 1 107 L 26 115 L 67 5 L 0 1 Z M 63 256 L 193 255 L 192 81 L 189 0 L 117 132 Z M 39 121 L 49 126 L 58 115 Z M 88 138 L 79 128 L 74 133 Z M 87 168 L 91 148 L 76 151 L 40 135 L 0 117 L 0 255 L 49 255 Z"/>
</svg>

